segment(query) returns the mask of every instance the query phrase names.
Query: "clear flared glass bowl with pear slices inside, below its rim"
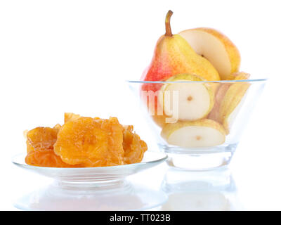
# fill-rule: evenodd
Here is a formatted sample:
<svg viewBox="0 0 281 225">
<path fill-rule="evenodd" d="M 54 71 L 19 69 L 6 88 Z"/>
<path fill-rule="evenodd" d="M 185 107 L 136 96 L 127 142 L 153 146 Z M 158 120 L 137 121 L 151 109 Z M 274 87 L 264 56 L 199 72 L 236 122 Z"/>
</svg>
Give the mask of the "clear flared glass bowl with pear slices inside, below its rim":
<svg viewBox="0 0 281 225">
<path fill-rule="evenodd" d="M 171 167 L 229 164 L 266 79 L 128 81 Z"/>
</svg>

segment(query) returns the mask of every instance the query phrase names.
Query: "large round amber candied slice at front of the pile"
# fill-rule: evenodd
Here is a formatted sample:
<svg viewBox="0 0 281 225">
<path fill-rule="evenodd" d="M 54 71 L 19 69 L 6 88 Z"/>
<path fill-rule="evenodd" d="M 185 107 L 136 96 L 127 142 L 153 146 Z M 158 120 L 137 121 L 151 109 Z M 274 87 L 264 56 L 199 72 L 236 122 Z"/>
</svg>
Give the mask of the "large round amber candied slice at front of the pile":
<svg viewBox="0 0 281 225">
<path fill-rule="evenodd" d="M 85 167 L 123 165 L 123 127 L 109 120 L 79 117 L 69 120 L 58 132 L 54 151 L 63 162 Z"/>
</svg>

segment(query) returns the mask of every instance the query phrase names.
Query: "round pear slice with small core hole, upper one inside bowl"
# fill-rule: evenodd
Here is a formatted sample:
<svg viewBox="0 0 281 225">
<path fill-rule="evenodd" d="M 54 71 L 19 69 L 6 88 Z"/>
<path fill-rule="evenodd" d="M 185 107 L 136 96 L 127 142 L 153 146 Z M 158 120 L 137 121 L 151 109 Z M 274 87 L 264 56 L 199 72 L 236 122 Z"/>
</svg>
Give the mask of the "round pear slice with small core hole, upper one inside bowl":
<svg viewBox="0 0 281 225">
<path fill-rule="evenodd" d="M 195 81 L 195 82 L 187 82 Z M 206 117 L 214 105 L 214 88 L 197 75 L 175 75 L 166 80 L 159 94 L 164 114 L 177 120 L 199 120 Z M 203 82 L 203 83 L 200 83 Z"/>
</svg>

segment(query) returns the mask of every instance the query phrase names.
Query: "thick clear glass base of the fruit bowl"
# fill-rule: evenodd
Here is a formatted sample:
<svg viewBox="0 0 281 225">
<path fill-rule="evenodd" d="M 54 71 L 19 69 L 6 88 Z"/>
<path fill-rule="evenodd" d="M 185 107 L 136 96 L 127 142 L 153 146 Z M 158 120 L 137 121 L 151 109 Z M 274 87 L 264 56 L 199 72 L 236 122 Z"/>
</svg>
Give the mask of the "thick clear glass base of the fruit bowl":
<svg viewBox="0 0 281 225">
<path fill-rule="evenodd" d="M 170 167 L 189 171 L 205 171 L 226 167 L 237 144 L 214 148 L 186 149 L 174 146 L 159 146 L 168 155 L 166 163 Z"/>
</svg>

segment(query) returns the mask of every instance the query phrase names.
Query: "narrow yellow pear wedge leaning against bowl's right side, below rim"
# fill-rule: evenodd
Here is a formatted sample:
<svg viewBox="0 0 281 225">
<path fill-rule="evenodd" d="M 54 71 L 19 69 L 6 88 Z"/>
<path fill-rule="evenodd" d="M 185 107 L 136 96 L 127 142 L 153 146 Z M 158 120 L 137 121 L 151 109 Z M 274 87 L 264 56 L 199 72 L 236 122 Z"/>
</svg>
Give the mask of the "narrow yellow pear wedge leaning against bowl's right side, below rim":
<svg viewBox="0 0 281 225">
<path fill-rule="evenodd" d="M 231 125 L 242 107 L 249 86 L 250 84 L 247 82 L 232 84 L 221 101 L 218 120 L 223 124 L 227 134 L 230 132 Z"/>
</svg>

